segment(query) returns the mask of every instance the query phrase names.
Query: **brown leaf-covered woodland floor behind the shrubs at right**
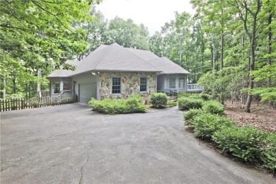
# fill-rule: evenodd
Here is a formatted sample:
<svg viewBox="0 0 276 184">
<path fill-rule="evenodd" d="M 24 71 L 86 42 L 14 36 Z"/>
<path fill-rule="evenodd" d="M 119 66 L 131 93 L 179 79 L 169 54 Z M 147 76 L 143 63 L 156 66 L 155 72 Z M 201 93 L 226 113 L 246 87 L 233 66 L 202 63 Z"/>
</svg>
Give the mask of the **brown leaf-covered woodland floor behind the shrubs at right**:
<svg viewBox="0 0 276 184">
<path fill-rule="evenodd" d="M 255 103 L 251 105 L 251 113 L 245 113 L 241 108 L 241 102 L 226 101 L 224 115 L 238 121 L 240 126 L 253 125 L 260 130 L 276 132 L 276 109 L 265 103 Z M 244 106 L 244 105 L 243 105 Z"/>
</svg>

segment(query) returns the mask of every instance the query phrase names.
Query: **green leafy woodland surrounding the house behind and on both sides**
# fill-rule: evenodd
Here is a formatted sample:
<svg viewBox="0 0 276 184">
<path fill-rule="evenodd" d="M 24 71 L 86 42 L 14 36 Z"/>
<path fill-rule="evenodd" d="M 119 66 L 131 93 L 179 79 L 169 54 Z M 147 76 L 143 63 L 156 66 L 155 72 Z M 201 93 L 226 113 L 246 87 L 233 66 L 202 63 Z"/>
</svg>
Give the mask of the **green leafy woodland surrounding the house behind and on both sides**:
<svg viewBox="0 0 276 184">
<path fill-rule="evenodd" d="M 189 82 L 224 103 L 276 103 L 276 1 L 191 0 L 196 13 L 176 12 L 161 31 L 115 17 L 93 0 L 0 1 L 1 98 L 31 98 L 49 88 L 54 69 L 74 69 L 101 44 L 150 50 L 190 71 Z"/>
</svg>

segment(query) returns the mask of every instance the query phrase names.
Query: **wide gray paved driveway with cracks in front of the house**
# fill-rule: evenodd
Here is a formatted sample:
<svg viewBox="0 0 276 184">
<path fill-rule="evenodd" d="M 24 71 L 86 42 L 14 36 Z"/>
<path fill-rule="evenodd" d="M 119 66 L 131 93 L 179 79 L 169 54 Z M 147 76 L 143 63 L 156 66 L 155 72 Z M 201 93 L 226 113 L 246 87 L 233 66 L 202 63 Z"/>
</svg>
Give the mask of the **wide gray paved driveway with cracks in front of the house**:
<svg viewBox="0 0 276 184">
<path fill-rule="evenodd" d="M 209 149 L 177 108 L 103 115 L 78 103 L 1 113 L 1 183 L 275 183 Z"/>
</svg>

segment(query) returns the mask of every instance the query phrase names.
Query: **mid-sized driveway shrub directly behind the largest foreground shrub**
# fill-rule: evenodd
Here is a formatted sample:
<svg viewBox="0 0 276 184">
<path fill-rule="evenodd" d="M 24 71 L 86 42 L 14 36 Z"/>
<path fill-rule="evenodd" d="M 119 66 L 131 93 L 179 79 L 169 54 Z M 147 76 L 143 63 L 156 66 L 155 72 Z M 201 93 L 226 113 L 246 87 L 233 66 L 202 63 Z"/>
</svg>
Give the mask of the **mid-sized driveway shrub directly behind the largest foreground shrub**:
<svg viewBox="0 0 276 184">
<path fill-rule="evenodd" d="M 222 117 L 221 115 L 212 115 L 210 113 L 201 113 L 192 121 L 194 132 L 197 137 L 202 139 L 211 139 L 212 134 L 225 127 L 236 126 L 233 120 Z"/>
</svg>

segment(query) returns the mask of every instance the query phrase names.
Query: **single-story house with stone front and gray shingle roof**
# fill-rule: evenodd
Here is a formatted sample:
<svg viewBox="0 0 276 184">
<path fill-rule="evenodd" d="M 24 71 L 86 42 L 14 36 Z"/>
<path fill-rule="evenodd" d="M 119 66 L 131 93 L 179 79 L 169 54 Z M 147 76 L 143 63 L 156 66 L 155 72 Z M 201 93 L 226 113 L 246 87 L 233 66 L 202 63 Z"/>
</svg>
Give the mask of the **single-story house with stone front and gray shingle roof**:
<svg viewBox="0 0 276 184">
<path fill-rule="evenodd" d="M 117 43 L 100 45 L 82 61 L 67 61 L 74 71 L 59 69 L 47 76 L 51 96 L 74 91 L 79 102 L 91 98 L 127 98 L 139 93 L 187 91 L 188 71 L 166 57 L 146 50 L 125 48 Z"/>
</svg>

